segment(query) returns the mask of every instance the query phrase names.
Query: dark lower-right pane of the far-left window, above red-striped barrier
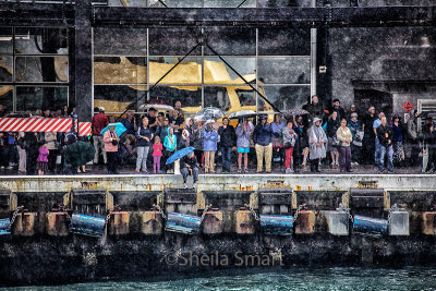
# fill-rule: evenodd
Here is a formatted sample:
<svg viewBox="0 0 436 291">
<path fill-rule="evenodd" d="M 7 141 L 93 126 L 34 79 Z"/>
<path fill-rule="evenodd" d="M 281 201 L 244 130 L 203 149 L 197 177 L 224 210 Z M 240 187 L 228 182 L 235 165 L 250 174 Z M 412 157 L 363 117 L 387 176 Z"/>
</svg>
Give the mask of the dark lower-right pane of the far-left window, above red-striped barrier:
<svg viewBox="0 0 436 291">
<path fill-rule="evenodd" d="M 55 110 L 68 105 L 68 87 L 16 87 L 16 110 Z"/>
</svg>

